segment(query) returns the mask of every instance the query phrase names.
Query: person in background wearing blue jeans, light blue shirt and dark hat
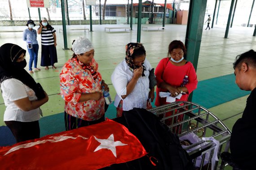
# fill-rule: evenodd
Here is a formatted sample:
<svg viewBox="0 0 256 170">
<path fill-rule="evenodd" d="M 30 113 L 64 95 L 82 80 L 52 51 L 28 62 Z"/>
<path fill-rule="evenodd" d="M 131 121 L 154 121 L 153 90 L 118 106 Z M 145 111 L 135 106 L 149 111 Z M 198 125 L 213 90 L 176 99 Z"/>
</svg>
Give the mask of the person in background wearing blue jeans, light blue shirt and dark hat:
<svg viewBox="0 0 256 170">
<path fill-rule="evenodd" d="M 37 68 L 37 56 L 38 56 L 39 45 L 36 40 L 37 38 L 36 30 L 33 29 L 33 27 L 35 26 L 34 21 L 28 20 L 26 23 L 26 26 L 27 26 L 27 29 L 23 31 L 23 41 L 26 41 L 27 51 L 30 56 L 29 63 L 28 63 L 29 73 L 34 73 L 32 71 L 33 61 L 34 61 L 34 70 L 40 71 L 40 69 Z"/>
</svg>

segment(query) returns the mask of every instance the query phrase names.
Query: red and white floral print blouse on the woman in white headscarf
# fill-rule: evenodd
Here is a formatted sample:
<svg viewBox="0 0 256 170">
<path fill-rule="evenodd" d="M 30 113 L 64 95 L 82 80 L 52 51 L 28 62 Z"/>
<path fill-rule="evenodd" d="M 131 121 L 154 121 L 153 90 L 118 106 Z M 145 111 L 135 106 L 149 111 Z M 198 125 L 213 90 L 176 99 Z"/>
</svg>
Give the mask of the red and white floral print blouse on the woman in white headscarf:
<svg viewBox="0 0 256 170">
<path fill-rule="evenodd" d="M 95 59 L 89 64 L 97 72 L 94 80 L 91 72 L 76 57 L 69 59 L 60 73 L 61 96 L 65 100 L 65 111 L 79 119 L 93 121 L 104 115 L 105 100 L 79 102 L 81 94 L 101 92 L 102 75 Z"/>
</svg>

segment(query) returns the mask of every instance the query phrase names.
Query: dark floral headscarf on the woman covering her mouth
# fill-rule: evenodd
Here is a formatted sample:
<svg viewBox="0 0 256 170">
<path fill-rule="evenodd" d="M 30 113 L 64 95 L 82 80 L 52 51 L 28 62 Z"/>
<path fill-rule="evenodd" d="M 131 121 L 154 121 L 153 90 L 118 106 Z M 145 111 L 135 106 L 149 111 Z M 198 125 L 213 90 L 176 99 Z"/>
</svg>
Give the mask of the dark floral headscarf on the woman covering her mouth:
<svg viewBox="0 0 256 170">
<path fill-rule="evenodd" d="M 142 50 L 145 52 L 146 54 L 146 50 L 143 47 L 143 45 L 141 43 L 128 43 L 126 45 L 126 56 L 125 56 L 125 61 L 128 64 L 128 66 L 130 68 L 132 68 L 132 70 L 137 69 L 138 66 L 135 66 L 133 63 L 133 59 L 132 59 L 132 54 L 134 52 L 136 52 L 137 50 Z M 144 71 L 146 70 L 146 67 L 142 64 L 143 67 L 143 72 L 142 72 L 142 76 L 145 76 Z"/>
</svg>

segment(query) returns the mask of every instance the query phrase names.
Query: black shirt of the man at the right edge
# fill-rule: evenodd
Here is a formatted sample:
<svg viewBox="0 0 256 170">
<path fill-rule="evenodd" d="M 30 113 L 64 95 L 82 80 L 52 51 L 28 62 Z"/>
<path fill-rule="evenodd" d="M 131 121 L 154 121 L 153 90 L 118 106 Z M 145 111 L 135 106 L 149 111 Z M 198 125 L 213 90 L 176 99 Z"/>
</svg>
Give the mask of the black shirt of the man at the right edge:
<svg viewBox="0 0 256 170">
<path fill-rule="evenodd" d="M 233 126 L 230 152 L 239 167 L 245 170 L 256 167 L 256 88 L 247 98 L 242 118 Z"/>
</svg>

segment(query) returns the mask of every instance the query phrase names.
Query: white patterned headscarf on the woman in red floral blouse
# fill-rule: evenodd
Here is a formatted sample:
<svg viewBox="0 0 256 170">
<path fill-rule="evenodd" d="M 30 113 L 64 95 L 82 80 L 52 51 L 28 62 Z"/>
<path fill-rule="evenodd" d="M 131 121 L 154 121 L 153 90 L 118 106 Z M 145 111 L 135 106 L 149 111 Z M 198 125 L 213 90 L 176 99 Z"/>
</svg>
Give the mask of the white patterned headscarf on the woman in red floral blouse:
<svg viewBox="0 0 256 170">
<path fill-rule="evenodd" d="M 78 37 L 72 44 L 72 50 L 75 54 L 83 54 L 85 52 L 93 50 L 93 44 L 85 37 Z"/>
</svg>

